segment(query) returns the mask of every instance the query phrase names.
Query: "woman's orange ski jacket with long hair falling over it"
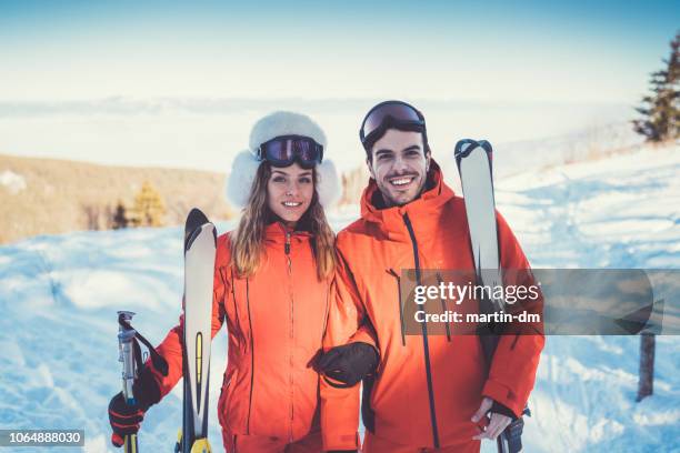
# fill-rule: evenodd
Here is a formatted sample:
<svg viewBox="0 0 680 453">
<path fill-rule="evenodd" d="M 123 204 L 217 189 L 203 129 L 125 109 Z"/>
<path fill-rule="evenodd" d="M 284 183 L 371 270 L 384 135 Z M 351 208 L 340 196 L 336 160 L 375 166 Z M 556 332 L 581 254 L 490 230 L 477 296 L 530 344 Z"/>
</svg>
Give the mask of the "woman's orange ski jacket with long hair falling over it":
<svg viewBox="0 0 680 453">
<path fill-rule="evenodd" d="M 318 429 L 319 375 L 330 279 L 319 281 L 310 234 L 281 223 L 266 228 L 264 254 L 251 278 L 230 264 L 229 234 L 218 238 L 212 336 L 227 321 L 227 371 L 218 403 L 222 430 L 294 442 Z M 166 378 L 154 372 L 164 396 L 182 376 L 182 328 L 170 330 L 158 352 Z"/>
</svg>

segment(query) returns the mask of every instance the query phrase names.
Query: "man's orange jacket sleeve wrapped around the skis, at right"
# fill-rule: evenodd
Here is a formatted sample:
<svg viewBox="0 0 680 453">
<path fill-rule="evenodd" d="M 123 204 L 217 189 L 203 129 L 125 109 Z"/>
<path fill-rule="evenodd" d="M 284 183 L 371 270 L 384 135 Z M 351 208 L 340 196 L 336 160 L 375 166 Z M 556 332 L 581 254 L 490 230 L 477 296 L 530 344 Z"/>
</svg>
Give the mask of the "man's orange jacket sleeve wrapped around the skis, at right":
<svg viewBox="0 0 680 453">
<path fill-rule="evenodd" d="M 534 299 L 514 303 L 508 311 L 539 314 L 542 321 L 543 299 L 529 262 L 506 220 L 500 214 L 497 219 L 506 288 L 534 285 L 538 293 Z M 544 342 L 542 322 L 510 323 L 499 339 L 482 394 L 507 406 L 517 416 L 521 415 L 533 389 Z"/>
</svg>

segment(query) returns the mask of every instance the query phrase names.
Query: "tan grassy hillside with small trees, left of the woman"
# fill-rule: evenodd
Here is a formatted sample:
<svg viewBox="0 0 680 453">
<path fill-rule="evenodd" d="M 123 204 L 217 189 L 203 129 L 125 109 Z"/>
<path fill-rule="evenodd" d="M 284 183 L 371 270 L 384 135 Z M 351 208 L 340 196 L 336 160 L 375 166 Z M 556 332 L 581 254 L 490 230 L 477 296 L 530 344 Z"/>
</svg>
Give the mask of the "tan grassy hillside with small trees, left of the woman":
<svg viewBox="0 0 680 453">
<path fill-rule="evenodd" d="M 149 182 L 167 208 L 166 224 L 181 224 L 192 207 L 211 219 L 233 210 L 224 174 L 198 170 L 110 167 L 0 154 L 0 243 L 37 234 L 109 229 L 119 201 L 131 205 Z"/>
</svg>

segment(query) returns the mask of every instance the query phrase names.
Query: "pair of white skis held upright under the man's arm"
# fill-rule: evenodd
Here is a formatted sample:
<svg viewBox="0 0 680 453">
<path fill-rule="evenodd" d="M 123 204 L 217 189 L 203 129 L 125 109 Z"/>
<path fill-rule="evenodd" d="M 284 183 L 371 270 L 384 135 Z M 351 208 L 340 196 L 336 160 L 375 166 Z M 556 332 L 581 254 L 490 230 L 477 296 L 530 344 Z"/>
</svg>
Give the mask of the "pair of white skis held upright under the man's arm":
<svg viewBox="0 0 680 453">
<path fill-rule="evenodd" d="M 466 214 L 470 230 L 470 245 L 474 258 L 478 284 L 496 288 L 503 284 L 500 266 L 500 248 L 496 223 L 496 201 L 493 197 L 492 158 L 493 149 L 486 140 L 461 140 L 456 144 L 456 163 L 460 173 L 466 202 Z M 482 299 L 480 312 L 493 313 L 503 310 L 503 301 Z M 498 334 L 483 326 L 480 341 L 487 364 L 490 366 L 498 345 Z M 530 415 L 524 407 L 522 415 Z M 524 422 L 518 417 L 497 437 L 499 453 L 517 453 L 522 450 L 522 429 Z"/>
</svg>

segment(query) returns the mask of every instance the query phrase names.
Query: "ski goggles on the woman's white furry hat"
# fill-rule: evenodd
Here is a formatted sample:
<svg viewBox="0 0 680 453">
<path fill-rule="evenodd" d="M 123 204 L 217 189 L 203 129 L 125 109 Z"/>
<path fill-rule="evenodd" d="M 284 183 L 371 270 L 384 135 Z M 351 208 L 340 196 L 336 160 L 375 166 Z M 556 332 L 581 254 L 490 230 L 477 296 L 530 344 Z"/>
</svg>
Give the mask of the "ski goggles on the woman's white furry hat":
<svg viewBox="0 0 680 453">
<path fill-rule="evenodd" d="M 282 135 L 260 144 L 258 159 L 273 167 L 289 167 L 297 160 L 301 167 L 311 169 L 323 160 L 323 147 L 309 137 Z"/>
</svg>

